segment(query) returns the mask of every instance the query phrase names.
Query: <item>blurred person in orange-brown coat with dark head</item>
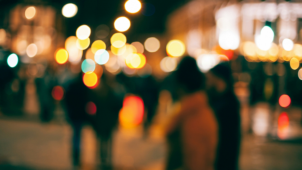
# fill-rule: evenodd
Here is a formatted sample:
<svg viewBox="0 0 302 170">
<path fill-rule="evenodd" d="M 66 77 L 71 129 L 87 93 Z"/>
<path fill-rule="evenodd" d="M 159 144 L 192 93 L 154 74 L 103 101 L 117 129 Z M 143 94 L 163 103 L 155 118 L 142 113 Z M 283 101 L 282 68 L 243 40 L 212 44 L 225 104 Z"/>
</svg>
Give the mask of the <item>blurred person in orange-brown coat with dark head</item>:
<svg viewBox="0 0 302 170">
<path fill-rule="evenodd" d="M 175 72 L 175 79 L 181 109 L 171 119 L 166 133 L 168 141 L 169 136 L 178 136 L 180 140 L 172 141 L 168 149 L 166 169 L 214 170 L 218 124 L 202 90 L 204 74 L 194 58 L 185 57 Z"/>
</svg>

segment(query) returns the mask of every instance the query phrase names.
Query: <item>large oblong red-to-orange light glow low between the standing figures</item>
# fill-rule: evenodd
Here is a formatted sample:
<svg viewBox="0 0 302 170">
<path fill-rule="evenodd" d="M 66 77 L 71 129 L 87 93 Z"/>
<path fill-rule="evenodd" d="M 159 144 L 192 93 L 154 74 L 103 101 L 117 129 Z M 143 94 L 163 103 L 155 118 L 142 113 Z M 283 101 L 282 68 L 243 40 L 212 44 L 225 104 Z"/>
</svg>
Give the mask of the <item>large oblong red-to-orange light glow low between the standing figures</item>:
<svg viewBox="0 0 302 170">
<path fill-rule="evenodd" d="M 124 128 L 132 128 L 143 121 L 144 103 L 138 96 L 127 96 L 123 101 L 123 107 L 119 113 L 120 125 Z"/>
</svg>

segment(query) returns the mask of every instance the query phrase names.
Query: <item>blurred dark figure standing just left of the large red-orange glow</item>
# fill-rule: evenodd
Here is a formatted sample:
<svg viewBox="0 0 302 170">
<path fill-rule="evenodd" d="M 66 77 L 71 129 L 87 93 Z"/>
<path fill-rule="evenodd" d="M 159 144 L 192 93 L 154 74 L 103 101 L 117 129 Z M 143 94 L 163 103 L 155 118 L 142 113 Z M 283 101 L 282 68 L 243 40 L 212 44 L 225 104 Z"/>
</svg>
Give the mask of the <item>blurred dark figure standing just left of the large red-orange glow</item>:
<svg viewBox="0 0 302 170">
<path fill-rule="evenodd" d="M 96 106 L 96 115 L 91 118 L 100 141 L 101 169 L 112 169 L 112 132 L 124 97 L 112 88 L 115 77 L 111 76 L 103 73 L 98 87 L 90 91 L 90 99 Z"/>
</svg>

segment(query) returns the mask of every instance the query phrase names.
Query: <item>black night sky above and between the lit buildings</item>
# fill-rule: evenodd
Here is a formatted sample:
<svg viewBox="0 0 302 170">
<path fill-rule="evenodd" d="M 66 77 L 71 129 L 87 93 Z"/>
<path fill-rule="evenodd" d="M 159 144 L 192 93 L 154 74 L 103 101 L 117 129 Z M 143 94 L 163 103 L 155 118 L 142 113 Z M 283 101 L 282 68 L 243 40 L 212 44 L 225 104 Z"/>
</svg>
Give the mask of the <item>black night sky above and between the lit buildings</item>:
<svg viewBox="0 0 302 170">
<path fill-rule="evenodd" d="M 66 25 L 66 36 L 74 35 L 76 29 L 83 24 L 88 25 L 92 30 L 101 24 L 106 24 L 110 29 L 114 29 L 114 20 L 120 16 L 125 16 L 131 21 L 129 30 L 124 32 L 126 36 L 162 33 L 165 31 L 167 15 L 189 0 L 140 0 L 142 4 L 151 3 L 155 6 L 155 13 L 151 16 L 144 16 L 140 11 L 135 14 L 128 13 L 124 9 L 124 3 L 126 1 L 127 0 L 0 0 L 0 19 L 3 21 L 7 18 L 9 9 L 18 3 L 52 5 L 60 13 L 65 4 L 74 3 L 78 6 L 78 13 L 72 18 L 63 17 L 63 21 Z M 5 21 L 2 21 L 0 22 L 0 27 L 5 27 L 7 24 L 5 24 Z"/>
</svg>

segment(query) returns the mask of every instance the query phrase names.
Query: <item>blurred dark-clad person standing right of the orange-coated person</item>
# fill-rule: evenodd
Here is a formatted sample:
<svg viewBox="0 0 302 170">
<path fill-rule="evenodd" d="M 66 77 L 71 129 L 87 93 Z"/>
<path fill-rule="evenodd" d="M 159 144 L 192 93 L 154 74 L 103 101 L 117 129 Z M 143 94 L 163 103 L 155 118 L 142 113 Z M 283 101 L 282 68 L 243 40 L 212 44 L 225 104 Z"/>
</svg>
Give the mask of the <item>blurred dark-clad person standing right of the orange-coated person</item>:
<svg viewBox="0 0 302 170">
<path fill-rule="evenodd" d="M 233 91 L 230 67 L 218 64 L 207 73 L 207 91 L 219 123 L 216 169 L 238 169 L 240 145 L 239 101 Z"/>
</svg>

